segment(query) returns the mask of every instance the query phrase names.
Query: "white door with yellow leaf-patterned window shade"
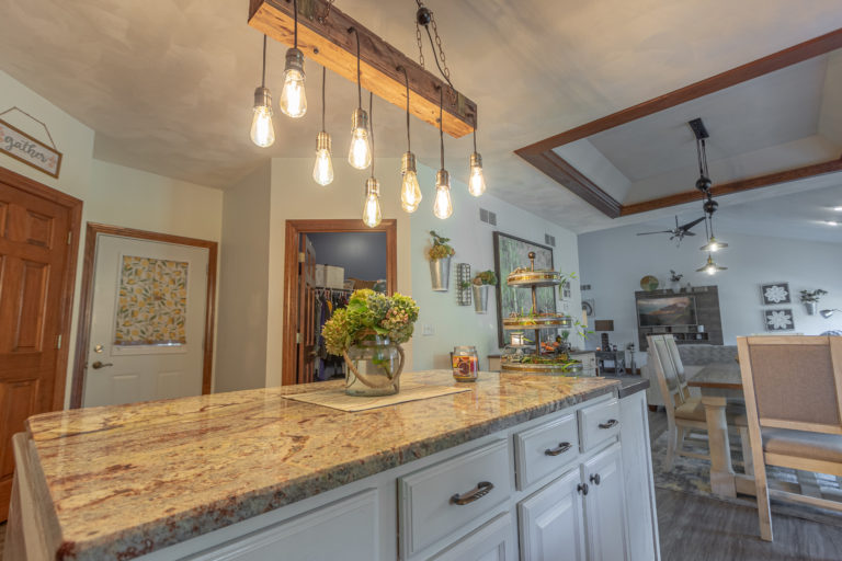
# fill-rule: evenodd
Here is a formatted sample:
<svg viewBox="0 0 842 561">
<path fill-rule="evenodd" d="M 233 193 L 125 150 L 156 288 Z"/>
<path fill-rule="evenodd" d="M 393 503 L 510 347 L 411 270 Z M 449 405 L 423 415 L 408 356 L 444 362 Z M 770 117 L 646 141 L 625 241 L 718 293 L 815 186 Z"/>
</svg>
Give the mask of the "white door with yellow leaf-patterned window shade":
<svg viewBox="0 0 842 561">
<path fill-rule="evenodd" d="M 202 393 L 208 250 L 100 234 L 83 407 Z"/>
</svg>

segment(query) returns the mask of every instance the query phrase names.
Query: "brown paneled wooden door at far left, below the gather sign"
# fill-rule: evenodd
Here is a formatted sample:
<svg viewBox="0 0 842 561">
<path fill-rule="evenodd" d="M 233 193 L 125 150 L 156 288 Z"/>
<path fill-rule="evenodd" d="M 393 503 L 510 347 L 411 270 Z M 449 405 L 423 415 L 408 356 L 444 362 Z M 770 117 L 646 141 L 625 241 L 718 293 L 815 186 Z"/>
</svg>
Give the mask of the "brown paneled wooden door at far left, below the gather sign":
<svg viewBox="0 0 842 561">
<path fill-rule="evenodd" d="M 42 196 L 38 191 L 43 191 Z M 66 339 L 81 202 L 0 170 L 0 520 L 14 472 L 11 437 L 64 402 Z M 75 232 L 75 233 L 78 233 Z"/>
</svg>

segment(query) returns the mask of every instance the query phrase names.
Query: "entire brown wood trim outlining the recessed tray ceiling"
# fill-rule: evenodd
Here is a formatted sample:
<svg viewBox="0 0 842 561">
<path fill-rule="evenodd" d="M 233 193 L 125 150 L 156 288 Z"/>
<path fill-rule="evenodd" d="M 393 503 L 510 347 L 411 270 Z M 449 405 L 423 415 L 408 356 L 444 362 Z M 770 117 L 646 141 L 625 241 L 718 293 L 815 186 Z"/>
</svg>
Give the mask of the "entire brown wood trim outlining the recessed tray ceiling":
<svg viewBox="0 0 842 561">
<path fill-rule="evenodd" d="M 517 156 L 539 169 L 576 195 L 590 203 L 594 208 L 610 218 L 646 213 L 658 208 L 682 205 L 698 199 L 697 191 L 687 191 L 668 195 L 651 201 L 632 205 L 623 205 L 614 199 L 599 185 L 582 175 L 572 164 L 559 157 L 554 148 L 588 138 L 598 133 L 625 125 L 633 121 L 659 113 L 682 103 L 725 90 L 732 85 L 781 70 L 810 58 L 842 48 L 842 28 L 820 35 L 798 45 L 778 50 L 772 55 L 738 66 L 698 82 L 685 85 L 658 98 L 645 101 L 632 107 L 612 113 L 596 121 L 585 123 L 558 135 L 550 136 L 514 151 Z M 840 160 L 831 160 L 818 164 L 805 165 L 782 172 L 770 173 L 758 178 L 733 181 L 722 185 L 714 185 L 715 196 L 739 193 L 752 188 L 761 188 L 787 181 L 807 179 L 826 173 L 842 171 Z"/>
</svg>

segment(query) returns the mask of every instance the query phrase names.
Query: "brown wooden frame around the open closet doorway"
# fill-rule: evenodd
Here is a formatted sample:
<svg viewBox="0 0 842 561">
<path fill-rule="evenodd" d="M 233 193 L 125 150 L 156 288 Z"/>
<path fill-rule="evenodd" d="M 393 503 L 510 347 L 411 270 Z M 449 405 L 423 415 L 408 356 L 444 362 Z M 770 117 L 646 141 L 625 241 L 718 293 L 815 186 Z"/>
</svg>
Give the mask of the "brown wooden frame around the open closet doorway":
<svg viewBox="0 0 842 561">
<path fill-rule="evenodd" d="M 398 288 L 398 220 L 384 218 L 379 226 L 368 228 L 359 218 L 330 220 L 287 220 L 284 245 L 284 329 L 281 383 L 291 386 L 295 376 L 295 323 L 298 312 L 298 237 L 301 233 L 386 232 L 386 291 Z"/>
</svg>

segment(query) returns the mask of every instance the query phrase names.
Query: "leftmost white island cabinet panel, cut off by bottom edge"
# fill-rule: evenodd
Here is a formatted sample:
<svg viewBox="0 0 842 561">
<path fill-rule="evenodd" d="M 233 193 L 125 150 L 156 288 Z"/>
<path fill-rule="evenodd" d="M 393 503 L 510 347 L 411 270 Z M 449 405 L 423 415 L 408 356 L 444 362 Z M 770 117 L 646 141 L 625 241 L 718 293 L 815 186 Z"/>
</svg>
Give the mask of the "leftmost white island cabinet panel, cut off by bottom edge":
<svg viewBox="0 0 842 561">
<path fill-rule="evenodd" d="M 375 561 L 377 491 L 364 491 L 292 520 L 206 550 L 192 561 Z"/>
</svg>

